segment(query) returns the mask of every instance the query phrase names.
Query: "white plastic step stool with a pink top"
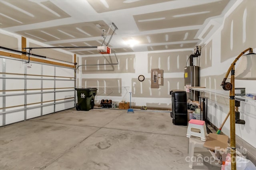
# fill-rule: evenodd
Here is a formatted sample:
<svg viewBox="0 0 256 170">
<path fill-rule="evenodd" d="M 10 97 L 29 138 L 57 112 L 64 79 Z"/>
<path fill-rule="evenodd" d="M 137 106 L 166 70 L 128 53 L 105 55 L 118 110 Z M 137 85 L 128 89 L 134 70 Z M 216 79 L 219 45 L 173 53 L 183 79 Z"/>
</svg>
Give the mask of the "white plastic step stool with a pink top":
<svg viewBox="0 0 256 170">
<path fill-rule="evenodd" d="M 200 130 L 200 131 L 196 131 L 196 130 Z M 204 121 L 191 119 L 188 122 L 187 137 L 196 136 L 196 137 L 200 137 L 201 141 L 206 141 L 206 135 L 207 135 L 207 130 L 206 130 L 206 125 Z"/>
</svg>

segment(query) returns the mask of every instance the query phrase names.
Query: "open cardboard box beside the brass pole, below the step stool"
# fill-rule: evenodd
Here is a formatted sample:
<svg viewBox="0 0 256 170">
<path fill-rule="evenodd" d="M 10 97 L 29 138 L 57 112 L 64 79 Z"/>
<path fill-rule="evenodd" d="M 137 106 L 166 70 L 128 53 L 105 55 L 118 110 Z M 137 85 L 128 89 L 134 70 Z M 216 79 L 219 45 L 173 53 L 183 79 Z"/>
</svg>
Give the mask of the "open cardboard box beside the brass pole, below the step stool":
<svg viewBox="0 0 256 170">
<path fill-rule="evenodd" d="M 225 161 L 227 156 L 228 136 L 209 133 L 204 147 L 209 149 L 214 159 L 222 164 L 222 161 Z"/>
</svg>

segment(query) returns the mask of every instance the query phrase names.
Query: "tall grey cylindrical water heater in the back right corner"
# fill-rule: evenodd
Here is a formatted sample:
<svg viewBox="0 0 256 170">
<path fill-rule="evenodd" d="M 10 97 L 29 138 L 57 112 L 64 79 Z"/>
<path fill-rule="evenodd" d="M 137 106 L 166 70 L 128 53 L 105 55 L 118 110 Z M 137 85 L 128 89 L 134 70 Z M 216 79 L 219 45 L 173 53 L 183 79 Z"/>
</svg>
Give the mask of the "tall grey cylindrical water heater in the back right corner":
<svg viewBox="0 0 256 170">
<path fill-rule="evenodd" d="M 186 66 L 184 68 L 184 80 L 187 99 L 199 101 L 199 92 L 190 88 L 199 86 L 199 66 Z"/>
</svg>

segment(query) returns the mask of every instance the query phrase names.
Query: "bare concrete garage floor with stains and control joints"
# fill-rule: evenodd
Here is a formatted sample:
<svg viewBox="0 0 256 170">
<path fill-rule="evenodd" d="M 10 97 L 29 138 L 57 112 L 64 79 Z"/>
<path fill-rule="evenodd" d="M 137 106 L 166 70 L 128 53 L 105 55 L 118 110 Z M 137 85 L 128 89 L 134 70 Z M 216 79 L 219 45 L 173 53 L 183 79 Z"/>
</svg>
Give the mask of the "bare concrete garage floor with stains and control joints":
<svg viewBox="0 0 256 170">
<path fill-rule="evenodd" d="M 170 112 L 134 112 L 73 108 L 0 127 L 0 169 L 189 170 L 187 127 L 173 125 Z M 197 170 L 220 167 L 194 162 Z"/>
</svg>

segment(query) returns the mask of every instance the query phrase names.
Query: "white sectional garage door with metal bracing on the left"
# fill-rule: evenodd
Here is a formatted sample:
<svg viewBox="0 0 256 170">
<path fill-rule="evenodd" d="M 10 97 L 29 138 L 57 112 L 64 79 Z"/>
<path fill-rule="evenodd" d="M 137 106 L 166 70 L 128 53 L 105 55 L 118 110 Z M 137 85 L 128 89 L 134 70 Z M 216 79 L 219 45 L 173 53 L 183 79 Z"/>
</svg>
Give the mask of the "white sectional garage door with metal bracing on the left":
<svg viewBox="0 0 256 170">
<path fill-rule="evenodd" d="M 0 56 L 0 126 L 75 106 L 74 68 Z"/>
</svg>

